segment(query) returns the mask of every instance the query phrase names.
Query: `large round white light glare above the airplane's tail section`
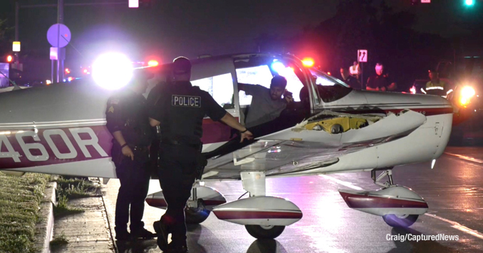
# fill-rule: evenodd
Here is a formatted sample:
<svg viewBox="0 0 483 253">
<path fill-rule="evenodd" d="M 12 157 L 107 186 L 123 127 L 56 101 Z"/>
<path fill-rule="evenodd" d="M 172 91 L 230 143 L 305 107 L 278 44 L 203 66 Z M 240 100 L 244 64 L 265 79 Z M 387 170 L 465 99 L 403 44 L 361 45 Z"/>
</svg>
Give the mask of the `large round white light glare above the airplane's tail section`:
<svg viewBox="0 0 483 253">
<path fill-rule="evenodd" d="M 133 78 L 133 64 L 121 53 L 105 53 L 92 67 L 95 83 L 108 90 L 123 88 Z"/>
</svg>

